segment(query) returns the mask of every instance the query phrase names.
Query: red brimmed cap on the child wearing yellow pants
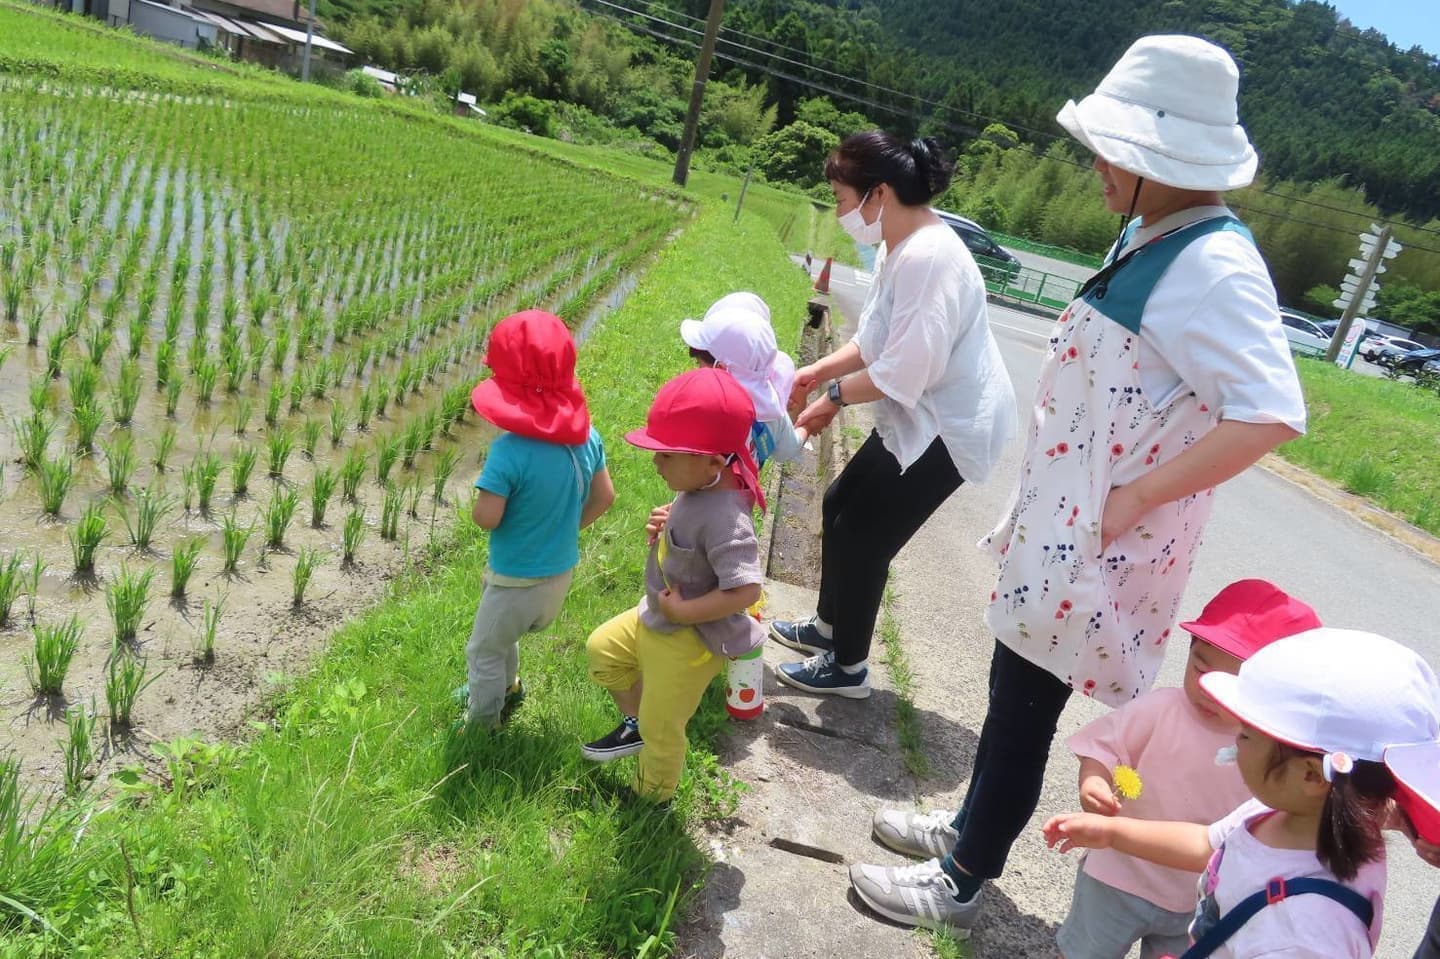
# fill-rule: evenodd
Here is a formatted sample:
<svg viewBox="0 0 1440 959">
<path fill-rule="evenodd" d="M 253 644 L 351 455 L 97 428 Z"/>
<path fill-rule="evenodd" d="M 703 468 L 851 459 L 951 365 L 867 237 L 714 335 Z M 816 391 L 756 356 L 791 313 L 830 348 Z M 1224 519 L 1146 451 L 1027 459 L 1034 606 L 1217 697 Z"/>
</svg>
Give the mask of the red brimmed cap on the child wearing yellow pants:
<svg viewBox="0 0 1440 959">
<path fill-rule="evenodd" d="M 625 433 L 641 449 L 732 456 L 730 469 L 765 508 L 759 469 L 750 455 L 755 402 L 724 370 L 704 367 L 681 373 L 660 387 L 644 429 Z"/>
</svg>

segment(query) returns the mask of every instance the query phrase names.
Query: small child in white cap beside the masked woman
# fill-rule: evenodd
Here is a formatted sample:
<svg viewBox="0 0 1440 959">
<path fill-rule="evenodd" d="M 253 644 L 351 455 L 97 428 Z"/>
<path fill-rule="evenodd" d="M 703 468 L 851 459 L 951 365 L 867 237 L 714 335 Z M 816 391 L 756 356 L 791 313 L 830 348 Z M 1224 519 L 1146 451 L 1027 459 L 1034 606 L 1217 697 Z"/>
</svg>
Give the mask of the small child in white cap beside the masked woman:
<svg viewBox="0 0 1440 959">
<path fill-rule="evenodd" d="M 700 366 L 727 370 L 755 403 L 750 441 L 755 461 L 765 465 L 799 459 L 808 438 L 785 409 L 795 383 L 795 363 L 782 353 L 770 325 L 770 308 L 753 292 L 716 300 L 703 320 L 680 324 L 680 338 Z"/>
</svg>

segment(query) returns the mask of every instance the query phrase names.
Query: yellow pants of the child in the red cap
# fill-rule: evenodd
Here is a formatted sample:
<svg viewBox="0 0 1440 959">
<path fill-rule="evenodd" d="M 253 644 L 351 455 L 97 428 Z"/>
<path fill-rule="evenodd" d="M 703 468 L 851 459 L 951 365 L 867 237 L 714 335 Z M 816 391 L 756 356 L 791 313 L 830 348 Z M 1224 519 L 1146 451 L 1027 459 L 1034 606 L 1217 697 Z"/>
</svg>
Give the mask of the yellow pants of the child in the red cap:
<svg viewBox="0 0 1440 959">
<path fill-rule="evenodd" d="M 670 799 L 685 766 L 685 724 L 724 659 L 713 655 L 694 629 L 648 629 L 639 609 L 628 609 L 596 628 L 585 651 L 590 678 L 606 690 L 624 693 L 644 680 L 639 736 L 645 747 L 635 767 L 635 792 L 655 802 Z"/>
</svg>

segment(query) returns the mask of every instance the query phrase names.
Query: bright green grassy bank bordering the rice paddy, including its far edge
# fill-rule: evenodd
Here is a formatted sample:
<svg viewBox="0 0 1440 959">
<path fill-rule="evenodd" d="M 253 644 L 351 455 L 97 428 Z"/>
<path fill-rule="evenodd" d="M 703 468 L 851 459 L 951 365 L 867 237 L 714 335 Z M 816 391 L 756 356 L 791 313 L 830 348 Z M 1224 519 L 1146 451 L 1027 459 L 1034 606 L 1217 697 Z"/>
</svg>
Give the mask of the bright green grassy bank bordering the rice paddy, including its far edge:
<svg viewBox="0 0 1440 959">
<path fill-rule="evenodd" d="M 17 16 L 30 14 L 0 4 L 0 36 Z M 140 85 L 167 91 L 174 78 L 174 89 L 194 89 L 189 68 L 147 59 L 138 40 L 92 36 L 88 24 L 50 16 L 23 23 L 42 26 L 26 35 L 26 58 L 0 40 L 0 69 L 60 50 L 42 59 L 62 79 L 124 69 Z M 108 43 L 120 53 L 104 59 Z M 265 79 L 222 76 L 242 94 L 271 92 Z M 297 102 L 337 96 L 284 81 L 275 88 Z M 657 164 L 631 160 L 589 161 L 658 181 Z M 98 809 L 73 848 L 71 829 L 60 829 L 49 847 L 60 855 L 42 860 L 43 870 L 7 868 L 4 893 L 56 932 L 14 923 L 0 955 L 575 956 L 664 943 L 672 896 L 697 881 L 703 864 L 683 822 L 723 809 L 734 786 L 708 752 L 724 721 L 714 694 L 693 727 L 696 775 L 683 785 L 678 816 L 625 806 L 616 793 L 626 765 L 595 767 L 576 749 L 613 721 L 585 677 L 585 635 L 635 602 L 639 528 L 664 494 L 648 456 L 621 433 L 644 420 L 655 386 L 685 366 L 675 321 L 717 295 L 759 291 L 782 341 L 795 341 L 806 284 L 778 232 L 791 223 L 793 239 L 802 226 L 832 222 L 759 190 L 732 225 L 733 210 L 719 202 L 727 184 L 696 180 L 700 213 L 582 351 L 621 498 L 585 536 L 564 615 L 523 647 L 531 698 L 505 734 L 459 744 L 445 736 L 485 562 L 484 537 L 458 524 L 426 572 L 334 636 L 252 743 L 233 755 L 186 750 L 168 763 L 173 789 Z"/>
</svg>

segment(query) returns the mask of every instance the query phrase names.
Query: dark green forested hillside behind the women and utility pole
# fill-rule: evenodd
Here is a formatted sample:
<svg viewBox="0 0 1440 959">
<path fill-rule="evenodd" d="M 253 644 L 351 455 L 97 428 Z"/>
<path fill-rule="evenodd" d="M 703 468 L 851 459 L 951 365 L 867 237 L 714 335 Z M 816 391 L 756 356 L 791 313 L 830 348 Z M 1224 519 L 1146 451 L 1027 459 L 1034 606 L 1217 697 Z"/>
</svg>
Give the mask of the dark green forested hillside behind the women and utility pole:
<svg viewBox="0 0 1440 959">
<path fill-rule="evenodd" d="M 323 0 L 372 62 L 477 94 L 498 122 L 670 156 L 707 0 Z M 1411 252 L 1382 305 L 1440 330 L 1440 62 L 1315 0 L 730 0 L 696 163 L 827 194 L 819 160 L 883 125 L 963 158 L 946 204 L 986 226 L 1103 249 L 1113 223 L 1054 122 L 1143 33 L 1210 37 L 1241 68 L 1264 181 L 1236 197 L 1282 295 L 1326 311 L 1355 233 Z M 1284 245 L 1280 249 L 1282 243 Z M 1401 295 L 1403 294 L 1403 295 Z M 1397 300 L 1398 297 L 1398 300 Z M 1401 301 L 1404 305 L 1400 307 Z"/>
</svg>

